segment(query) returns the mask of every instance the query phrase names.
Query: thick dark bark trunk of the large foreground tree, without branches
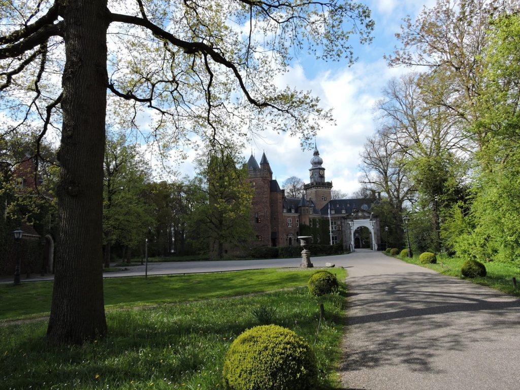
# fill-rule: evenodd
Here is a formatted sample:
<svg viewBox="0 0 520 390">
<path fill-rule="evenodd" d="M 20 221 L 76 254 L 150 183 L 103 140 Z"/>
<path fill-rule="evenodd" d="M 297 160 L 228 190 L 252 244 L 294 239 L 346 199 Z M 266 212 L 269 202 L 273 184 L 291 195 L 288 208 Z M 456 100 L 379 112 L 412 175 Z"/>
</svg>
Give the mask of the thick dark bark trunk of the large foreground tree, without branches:
<svg viewBox="0 0 520 390">
<path fill-rule="evenodd" d="M 47 338 L 78 344 L 107 332 L 102 279 L 102 190 L 107 0 L 63 2 L 66 64 L 58 158 L 60 242 Z"/>
</svg>

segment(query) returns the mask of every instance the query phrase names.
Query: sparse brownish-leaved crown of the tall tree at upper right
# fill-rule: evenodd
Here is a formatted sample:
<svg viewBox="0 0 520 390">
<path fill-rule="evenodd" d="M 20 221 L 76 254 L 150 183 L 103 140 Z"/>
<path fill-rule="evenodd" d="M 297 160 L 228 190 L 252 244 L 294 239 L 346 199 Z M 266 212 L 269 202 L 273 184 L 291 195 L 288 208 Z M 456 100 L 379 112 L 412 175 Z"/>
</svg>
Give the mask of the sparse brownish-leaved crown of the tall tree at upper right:
<svg viewBox="0 0 520 390">
<path fill-rule="evenodd" d="M 485 89 L 481 59 L 488 31 L 493 20 L 514 9 L 514 0 L 437 0 L 417 20 L 404 20 L 396 34 L 401 47 L 386 57 L 388 64 L 424 69 L 420 84 L 428 106 L 443 108 L 446 124 L 469 136 L 466 131 L 480 114 L 476 99 Z M 478 148 L 487 132 L 473 135 Z"/>
</svg>

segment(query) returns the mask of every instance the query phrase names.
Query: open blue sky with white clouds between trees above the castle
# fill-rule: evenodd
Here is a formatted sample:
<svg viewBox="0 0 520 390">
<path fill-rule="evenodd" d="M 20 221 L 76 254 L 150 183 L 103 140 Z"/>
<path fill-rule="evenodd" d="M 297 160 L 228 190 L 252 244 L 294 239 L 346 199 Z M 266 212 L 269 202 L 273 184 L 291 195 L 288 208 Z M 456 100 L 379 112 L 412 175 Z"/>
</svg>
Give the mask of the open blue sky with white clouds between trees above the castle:
<svg viewBox="0 0 520 390">
<path fill-rule="evenodd" d="M 321 98 L 324 108 L 333 109 L 336 126 L 323 127 L 318 132 L 316 144 L 326 168 L 326 179 L 332 180 L 334 188 L 347 194 L 359 189 L 359 153 L 367 136 L 374 133 L 374 103 L 381 97 L 381 90 L 389 79 L 408 71 L 389 69 L 383 55 L 393 53 L 397 44 L 394 34 L 399 31 L 402 19 L 409 15 L 415 20 L 424 6 L 431 7 L 434 1 L 369 0 L 365 4 L 375 20 L 374 39 L 371 45 L 356 46 L 359 60 L 354 66 L 301 60 L 278 80 L 280 85 L 312 90 Z M 273 176 L 280 185 L 290 176 L 307 182 L 313 152 L 303 151 L 297 138 L 264 133 L 262 139 L 253 140 L 248 150 L 244 150 L 245 160 L 251 152 L 258 162 L 262 153 L 266 153 Z M 179 170 L 181 175 L 193 176 L 189 158 Z"/>
</svg>

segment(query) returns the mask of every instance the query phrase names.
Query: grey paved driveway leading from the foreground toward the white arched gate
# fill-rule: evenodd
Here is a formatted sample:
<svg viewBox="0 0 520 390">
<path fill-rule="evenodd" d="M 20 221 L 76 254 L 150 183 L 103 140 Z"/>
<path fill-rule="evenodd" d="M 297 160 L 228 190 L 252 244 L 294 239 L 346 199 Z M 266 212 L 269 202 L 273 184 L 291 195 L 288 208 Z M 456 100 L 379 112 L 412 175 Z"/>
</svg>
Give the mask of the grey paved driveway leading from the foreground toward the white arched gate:
<svg viewBox="0 0 520 390">
<path fill-rule="evenodd" d="M 520 301 L 402 263 L 350 254 L 343 389 L 518 389 Z"/>
</svg>

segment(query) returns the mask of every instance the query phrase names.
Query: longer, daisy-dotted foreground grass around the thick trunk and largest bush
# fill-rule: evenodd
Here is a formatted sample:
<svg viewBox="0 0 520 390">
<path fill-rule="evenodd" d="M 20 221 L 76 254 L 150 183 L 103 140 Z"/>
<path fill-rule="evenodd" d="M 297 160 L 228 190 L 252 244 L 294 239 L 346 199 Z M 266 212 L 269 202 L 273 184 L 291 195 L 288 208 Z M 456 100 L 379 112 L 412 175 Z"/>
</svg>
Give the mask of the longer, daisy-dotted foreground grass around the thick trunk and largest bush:
<svg viewBox="0 0 520 390">
<path fill-rule="evenodd" d="M 345 277 L 343 269 L 335 271 L 340 280 Z M 295 279 L 309 275 L 307 271 L 278 272 Z M 155 280 L 158 284 L 166 281 Z M 168 289 L 164 284 L 163 288 Z M 4 325 L 0 327 L 0 382 L 3 388 L 17 389 L 222 388 L 223 359 L 230 344 L 242 331 L 259 324 L 253 309 L 266 306 L 276 309 L 272 322 L 314 345 L 320 388 L 336 388 L 344 293 L 343 285 L 340 294 L 318 301 L 306 287 L 293 287 L 259 295 L 111 310 L 107 313 L 109 335 L 74 347 L 47 345 L 46 321 Z M 317 334 L 320 302 L 326 321 Z"/>
</svg>

